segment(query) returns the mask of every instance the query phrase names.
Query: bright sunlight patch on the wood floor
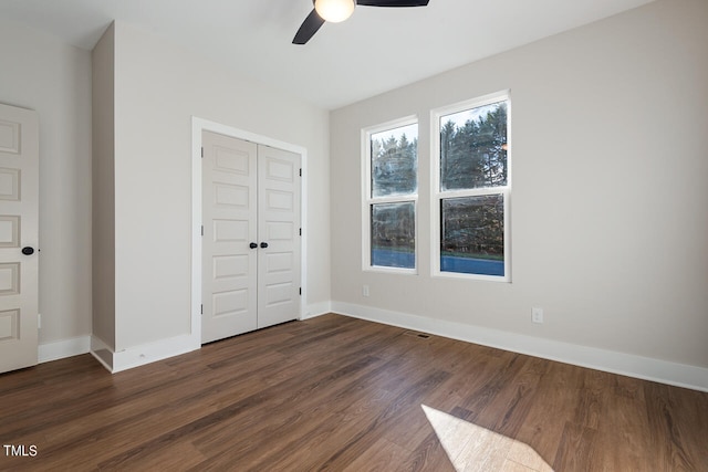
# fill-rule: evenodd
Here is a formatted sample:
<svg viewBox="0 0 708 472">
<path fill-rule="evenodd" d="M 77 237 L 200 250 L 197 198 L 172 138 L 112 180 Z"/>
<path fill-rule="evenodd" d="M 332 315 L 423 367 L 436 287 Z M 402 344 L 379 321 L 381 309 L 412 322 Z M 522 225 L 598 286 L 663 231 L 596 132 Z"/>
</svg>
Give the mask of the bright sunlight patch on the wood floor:
<svg viewBox="0 0 708 472">
<path fill-rule="evenodd" d="M 553 472 L 531 447 L 421 405 L 457 471 Z"/>
</svg>

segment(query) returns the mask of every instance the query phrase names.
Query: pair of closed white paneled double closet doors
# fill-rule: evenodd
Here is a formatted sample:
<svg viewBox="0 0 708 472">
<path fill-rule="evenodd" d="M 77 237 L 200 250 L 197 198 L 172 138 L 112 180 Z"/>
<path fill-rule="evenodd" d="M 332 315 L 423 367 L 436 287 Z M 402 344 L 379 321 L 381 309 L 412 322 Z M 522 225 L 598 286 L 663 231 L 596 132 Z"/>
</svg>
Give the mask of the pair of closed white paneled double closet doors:
<svg viewBox="0 0 708 472">
<path fill-rule="evenodd" d="M 201 340 L 300 315 L 300 156 L 202 133 Z"/>
</svg>

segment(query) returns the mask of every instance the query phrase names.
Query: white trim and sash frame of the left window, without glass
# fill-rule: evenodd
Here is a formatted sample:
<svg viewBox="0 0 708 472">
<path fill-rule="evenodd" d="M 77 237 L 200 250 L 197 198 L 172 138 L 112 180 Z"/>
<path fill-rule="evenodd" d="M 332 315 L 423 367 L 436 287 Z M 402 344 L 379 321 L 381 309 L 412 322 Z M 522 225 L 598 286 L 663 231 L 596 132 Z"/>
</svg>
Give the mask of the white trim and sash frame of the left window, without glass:
<svg viewBox="0 0 708 472">
<path fill-rule="evenodd" d="M 416 115 L 406 116 L 399 119 L 382 123 L 379 125 L 369 126 L 362 129 L 362 269 L 366 272 L 384 272 L 395 274 L 418 274 L 418 230 L 419 230 L 419 212 L 418 212 L 418 196 L 420 193 L 420 175 L 416 172 L 418 179 L 418 191 L 415 196 L 395 196 L 395 197 L 376 197 L 372 198 L 372 149 L 368 145 L 371 135 L 386 132 L 388 129 L 399 128 L 408 125 L 418 125 L 418 143 L 420 143 L 420 128 L 419 120 Z M 420 167 L 420 158 L 418 157 L 418 169 Z M 371 235 L 371 207 L 374 203 L 397 203 L 413 201 L 414 214 L 415 214 L 415 244 L 414 251 L 414 269 L 405 268 L 385 268 L 381 265 L 372 265 L 372 235 Z"/>
</svg>

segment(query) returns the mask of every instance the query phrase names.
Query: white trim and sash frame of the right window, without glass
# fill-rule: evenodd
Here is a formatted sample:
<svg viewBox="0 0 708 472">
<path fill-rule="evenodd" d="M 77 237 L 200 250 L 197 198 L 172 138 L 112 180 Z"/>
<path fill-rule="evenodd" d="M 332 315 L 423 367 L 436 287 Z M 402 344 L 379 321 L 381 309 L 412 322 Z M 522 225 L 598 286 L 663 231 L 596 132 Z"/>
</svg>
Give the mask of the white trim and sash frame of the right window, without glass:
<svg viewBox="0 0 708 472">
<path fill-rule="evenodd" d="M 511 283 L 511 157 L 512 146 L 507 149 L 507 185 L 485 189 L 466 189 L 440 191 L 440 117 L 490 105 L 501 101 L 508 102 L 507 143 L 511 139 L 511 92 L 509 90 L 483 95 L 478 98 L 459 102 L 430 111 L 430 271 L 434 277 L 479 280 Z M 440 271 L 440 201 L 442 199 L 475 197 L 482 195 L 502 195 L 504 199 L 504 275 L 481 275 L 460 272 Z"/>
</svg>

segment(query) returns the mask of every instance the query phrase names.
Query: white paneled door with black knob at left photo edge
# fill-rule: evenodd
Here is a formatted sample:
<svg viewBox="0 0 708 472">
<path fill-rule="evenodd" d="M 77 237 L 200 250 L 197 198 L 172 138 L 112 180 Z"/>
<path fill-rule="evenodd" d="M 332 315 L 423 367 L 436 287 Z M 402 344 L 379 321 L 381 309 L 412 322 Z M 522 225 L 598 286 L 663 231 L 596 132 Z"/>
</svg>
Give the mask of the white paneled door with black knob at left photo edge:
<svg viewBox="0 0 708 472">
<path fill-rule="evenodd" d="M 0 373 L 38 360 L 39 118 L 0 105 Z"/>
</svg>

